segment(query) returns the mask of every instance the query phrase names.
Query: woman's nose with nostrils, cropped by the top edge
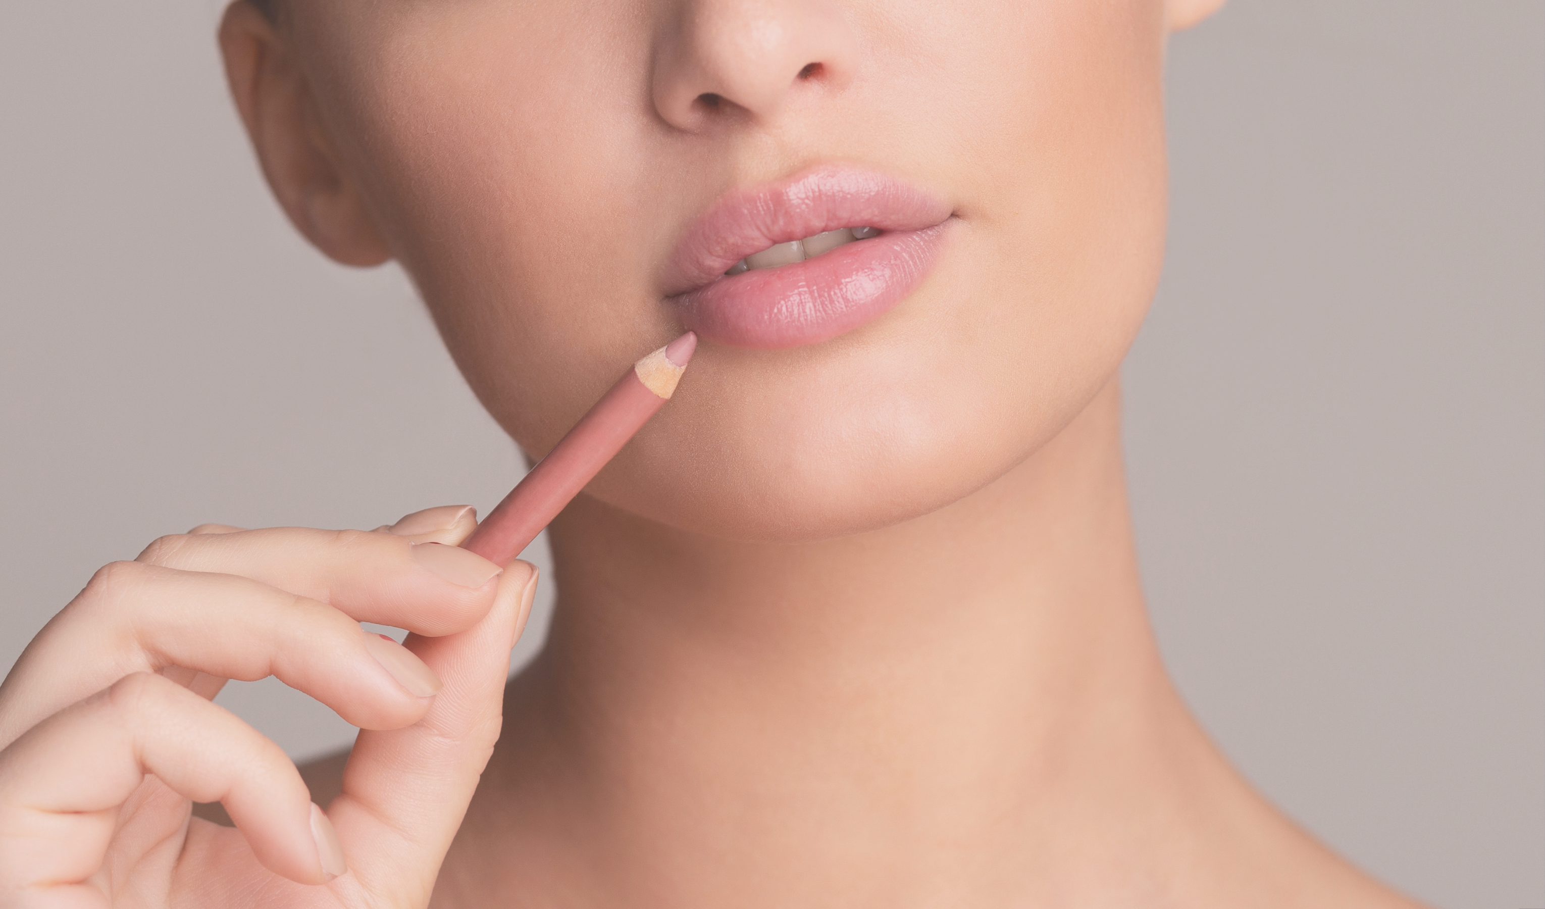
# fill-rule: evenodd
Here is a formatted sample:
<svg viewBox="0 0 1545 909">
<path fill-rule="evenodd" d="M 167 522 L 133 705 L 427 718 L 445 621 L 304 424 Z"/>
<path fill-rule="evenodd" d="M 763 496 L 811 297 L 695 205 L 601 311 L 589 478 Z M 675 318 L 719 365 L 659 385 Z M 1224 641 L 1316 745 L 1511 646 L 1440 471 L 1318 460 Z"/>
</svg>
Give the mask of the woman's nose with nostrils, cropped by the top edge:
<svg viewBox="0 0 1545 909">
<path fill-rule="evenodd" d="M 834 0 L 681 0 L 655 42 L 655 110 L 686 131 L 769 121 L 794 97 L 847 85 L 856 49 Z"/>
</svg>

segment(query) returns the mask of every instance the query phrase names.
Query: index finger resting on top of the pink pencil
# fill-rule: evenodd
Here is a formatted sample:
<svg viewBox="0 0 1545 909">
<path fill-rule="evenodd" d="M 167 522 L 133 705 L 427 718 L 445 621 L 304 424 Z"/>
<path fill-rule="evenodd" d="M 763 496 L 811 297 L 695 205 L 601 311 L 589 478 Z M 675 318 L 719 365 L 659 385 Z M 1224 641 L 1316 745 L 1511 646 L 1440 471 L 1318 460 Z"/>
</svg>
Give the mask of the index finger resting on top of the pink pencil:
<svg viewBox="0 0 1545 909">
<path fill-rule="evenodd" d="M 501 570 L 453 546 L 307 527 L 162 536 L 134 561 L 241 575 L 337 606 L 358 621 L 425 635 L 462 631 L 482 618 Z"/>
</svg>

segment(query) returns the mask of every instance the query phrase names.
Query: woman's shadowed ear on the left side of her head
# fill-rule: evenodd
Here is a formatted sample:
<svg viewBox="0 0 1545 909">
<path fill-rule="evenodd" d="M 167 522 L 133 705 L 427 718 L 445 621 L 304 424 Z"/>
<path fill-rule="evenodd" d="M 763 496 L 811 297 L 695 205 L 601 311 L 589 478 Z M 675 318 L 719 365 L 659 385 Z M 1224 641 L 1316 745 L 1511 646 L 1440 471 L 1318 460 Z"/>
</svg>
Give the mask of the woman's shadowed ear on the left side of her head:
<svg viewBox="0 0 1545 909">
<path fill-rule="evenodd" d="M 219 23 L 219 49 L 263 176 L 290 223 L 343 264 L 389 260 L 391 249 L 323 127 L 283 25 L 275 26 L 247 0 L 235 0 Z"/>
</svg>

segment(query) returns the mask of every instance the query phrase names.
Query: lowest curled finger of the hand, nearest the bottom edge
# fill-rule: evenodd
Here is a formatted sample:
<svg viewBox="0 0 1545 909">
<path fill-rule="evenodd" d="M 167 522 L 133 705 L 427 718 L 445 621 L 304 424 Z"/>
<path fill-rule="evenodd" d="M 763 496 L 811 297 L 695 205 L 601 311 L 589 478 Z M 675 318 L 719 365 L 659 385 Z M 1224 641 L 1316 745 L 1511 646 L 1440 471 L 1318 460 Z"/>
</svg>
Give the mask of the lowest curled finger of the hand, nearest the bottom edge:
<svg viewBox="0 0 1545 909">
<path fill-rule="evenodd" d="M 0 887 L 9 890 L 0 903 L 88 897 L 117 809 L 147 773 L 184 798 L 222 802 L 269 870 L 312 884 L 341 873 L 312 832 L 326 835 L 326 816 L 317 822 L 278 745 L 179 685 L 134 674 L 0 751 Z"/>
</svg>

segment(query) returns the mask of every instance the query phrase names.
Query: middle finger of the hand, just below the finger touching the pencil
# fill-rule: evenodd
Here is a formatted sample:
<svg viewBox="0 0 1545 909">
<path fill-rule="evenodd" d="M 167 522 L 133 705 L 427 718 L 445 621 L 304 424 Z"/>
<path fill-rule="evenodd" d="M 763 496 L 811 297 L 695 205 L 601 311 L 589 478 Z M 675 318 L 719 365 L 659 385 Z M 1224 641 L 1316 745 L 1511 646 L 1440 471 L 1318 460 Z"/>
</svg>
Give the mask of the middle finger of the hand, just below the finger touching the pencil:
<svg viewBox="0 0 1545 909">
<path fill-rule="evenodd" d="M 0 686 L 0 744 L 131 672 L 213 697 L 277 676 L 363 728 L 416 722 L 439 679 L 338 609 L 236 575 L 113 563 L 28 645 Z"/>
</svg>

